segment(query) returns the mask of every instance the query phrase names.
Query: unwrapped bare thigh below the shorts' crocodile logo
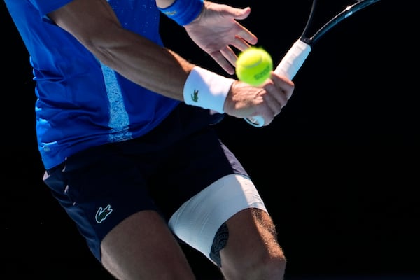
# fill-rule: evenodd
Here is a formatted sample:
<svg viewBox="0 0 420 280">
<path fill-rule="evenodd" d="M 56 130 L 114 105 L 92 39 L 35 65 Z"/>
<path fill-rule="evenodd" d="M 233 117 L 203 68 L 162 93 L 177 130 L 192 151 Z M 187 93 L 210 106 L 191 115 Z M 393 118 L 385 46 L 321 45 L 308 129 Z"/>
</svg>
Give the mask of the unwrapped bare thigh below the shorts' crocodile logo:
<svg viewBox="0 0 420 280">
<path fill-rule="evenodd" d="M 195 279 L 178 241 L 155 211 L 140 211 L 101 244 L 102 264 L 117 279 Z"/>
</svg>

